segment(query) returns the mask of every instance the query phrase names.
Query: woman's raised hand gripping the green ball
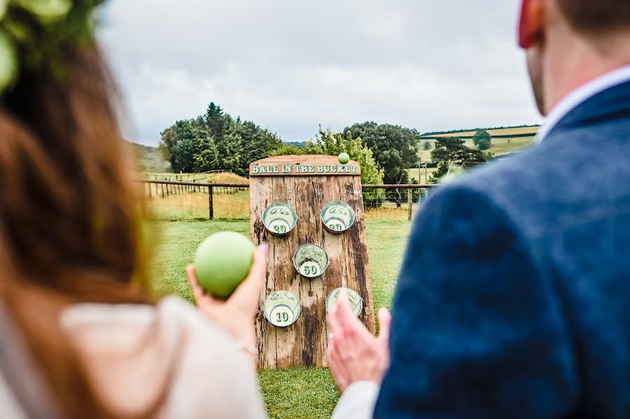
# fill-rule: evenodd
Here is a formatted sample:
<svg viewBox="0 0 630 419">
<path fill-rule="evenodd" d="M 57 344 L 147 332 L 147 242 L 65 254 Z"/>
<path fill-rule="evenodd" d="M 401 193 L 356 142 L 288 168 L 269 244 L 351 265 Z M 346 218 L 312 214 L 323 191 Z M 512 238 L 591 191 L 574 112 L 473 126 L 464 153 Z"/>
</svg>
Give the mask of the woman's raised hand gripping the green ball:
<svg viewBox="0 0 630 419">
<path fill-rule="evenodd" d="M 197 307 L 241 345 L 255 347 L 254 316 L 267 274 L 267 245 L 262 244 L 256 249 L 249 275 L 227 301 L 214 298 L 201 287 L 194 266 L 188 266 L 186 274 Z"/>
</svg>

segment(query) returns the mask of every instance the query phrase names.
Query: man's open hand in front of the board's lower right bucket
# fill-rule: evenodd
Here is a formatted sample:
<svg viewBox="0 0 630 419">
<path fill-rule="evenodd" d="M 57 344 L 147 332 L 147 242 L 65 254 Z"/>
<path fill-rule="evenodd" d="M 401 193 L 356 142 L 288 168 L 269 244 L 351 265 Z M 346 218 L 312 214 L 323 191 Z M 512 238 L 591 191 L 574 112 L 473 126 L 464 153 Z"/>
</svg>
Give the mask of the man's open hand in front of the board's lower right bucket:
<svg viewBox="0 0 630 419">
<path fill-rule="evenodd" d="M 372 336 L 351 308 L 348 292 L 339 291 L 339 300 L 328 316 L 328 367 L 339 391 L 356 381 L 381 383 L 389 367 L 389 326 L 391 315 L 379 310 L 379 337 Z"/>
</svg>

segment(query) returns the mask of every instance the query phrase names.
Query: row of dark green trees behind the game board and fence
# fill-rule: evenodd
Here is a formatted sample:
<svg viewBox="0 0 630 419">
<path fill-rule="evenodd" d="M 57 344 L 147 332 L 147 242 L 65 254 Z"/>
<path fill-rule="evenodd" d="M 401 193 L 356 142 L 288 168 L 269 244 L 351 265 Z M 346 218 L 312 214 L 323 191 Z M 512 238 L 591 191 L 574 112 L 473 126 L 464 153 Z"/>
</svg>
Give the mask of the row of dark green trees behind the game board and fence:
<svg viewBox="0 0 630 419">
<path fill-rule="evenodd" d="M 160 151 L 174 172 L 209 172 L 225 170 L 248 176 L 255 160 L 288 154 L 325 154 L 345 152 L 362 167 L 363 184 L 418 183 L 409 178 L 409 168 L 419 164 L 421 135 L 400 125 L 375 122 L 355 123 L 342 132 L 323 130 L 314 139 L 296 145 L 283 143 L 278 135 L 251 121 L 233 118 L 221 106 L 211 102 L 203 115 L 177 121 L 161 133 Z M 454 165 L 467 168 L 486 161 L 483 150 L 491 146 L 491 135 L 484 130 L 475 134 L 477 150 L 458 138 L 438 139 L 431 152 L 440 163 L 432 181 L 437 181 Z M 425 144 L 426 146 L 427 144 Z M 384 198 L 382 191 L 366 191 L 367 200 Z M 400 197 L 388 192 L 387 198 Z"/>
</svg>

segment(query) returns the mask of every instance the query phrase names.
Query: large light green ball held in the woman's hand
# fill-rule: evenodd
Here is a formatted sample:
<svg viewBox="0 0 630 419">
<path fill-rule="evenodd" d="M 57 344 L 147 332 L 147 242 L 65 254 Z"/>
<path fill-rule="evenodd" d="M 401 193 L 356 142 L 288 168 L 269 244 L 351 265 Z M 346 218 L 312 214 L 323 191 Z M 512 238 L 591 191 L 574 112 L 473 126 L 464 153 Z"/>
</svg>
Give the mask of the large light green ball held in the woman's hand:
<svg viewBox="0 0 630 419">
<path fill-rule="evenodd" d="M 254 249 L 251 240 L 239 233 L 211 235 L 195 253 L 197 281 L 213 296 L 228 298 L 247 277 Z"/>
</svg>

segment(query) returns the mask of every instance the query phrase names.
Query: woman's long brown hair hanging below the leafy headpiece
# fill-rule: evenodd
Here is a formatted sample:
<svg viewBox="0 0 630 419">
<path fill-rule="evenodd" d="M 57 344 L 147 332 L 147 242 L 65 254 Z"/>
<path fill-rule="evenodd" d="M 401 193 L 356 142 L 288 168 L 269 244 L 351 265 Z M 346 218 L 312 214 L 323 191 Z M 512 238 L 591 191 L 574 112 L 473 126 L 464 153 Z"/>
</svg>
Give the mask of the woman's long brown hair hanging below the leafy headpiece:
<svg viewBox="0 0 630 419">
<path fill-rule="evenodd" d="M 95 47 L 0 98 L 0 305 L 68 417 L 104 417 L 59 327 L 73 303 L 146 303 L 139 207 Z"/>
</svg>

